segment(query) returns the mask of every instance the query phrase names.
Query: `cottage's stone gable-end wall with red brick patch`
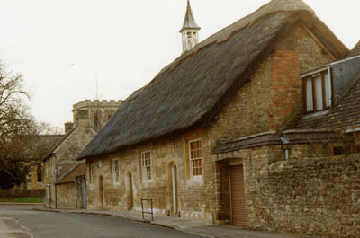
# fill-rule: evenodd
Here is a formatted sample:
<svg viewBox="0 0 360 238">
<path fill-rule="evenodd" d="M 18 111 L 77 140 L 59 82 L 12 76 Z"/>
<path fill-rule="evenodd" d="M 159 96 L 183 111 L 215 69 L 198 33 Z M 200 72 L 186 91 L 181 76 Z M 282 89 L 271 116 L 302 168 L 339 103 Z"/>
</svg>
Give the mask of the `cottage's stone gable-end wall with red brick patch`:
<svg viewBox="0 0 360 238">
<path fill-rule="evenodd" d="M 302 110 L 300 73 L 331 61 L 301 24 L 280 40 L 251 80 L 221 111 L 211 126 L 211 146 L 224 137 L 246 137 L 281 129 Z"/>
</svg>

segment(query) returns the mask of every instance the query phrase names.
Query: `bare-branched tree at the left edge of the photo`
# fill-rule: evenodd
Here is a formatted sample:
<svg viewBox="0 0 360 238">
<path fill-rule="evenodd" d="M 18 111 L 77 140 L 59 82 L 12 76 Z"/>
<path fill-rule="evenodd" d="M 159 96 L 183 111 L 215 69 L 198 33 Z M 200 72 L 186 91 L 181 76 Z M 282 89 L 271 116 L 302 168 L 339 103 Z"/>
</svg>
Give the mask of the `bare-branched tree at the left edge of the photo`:
<svg viewBox="0 0 360 238">
<path fill-rule="evenodd" d="M 23 76 L 8 71 L 0 62 L 0 188 L 13 188 L 26 180 L 31 166 L 54 146 L 43 137 L 55 133 L 49 124 L 37 123 L 26 100 Z M 59 132 L 59 131 L 58 131 Z M 57 133 L 58 134 L 58 133 Z M 50 143 L 49 143 L 50 141 Z"/>
</svg>

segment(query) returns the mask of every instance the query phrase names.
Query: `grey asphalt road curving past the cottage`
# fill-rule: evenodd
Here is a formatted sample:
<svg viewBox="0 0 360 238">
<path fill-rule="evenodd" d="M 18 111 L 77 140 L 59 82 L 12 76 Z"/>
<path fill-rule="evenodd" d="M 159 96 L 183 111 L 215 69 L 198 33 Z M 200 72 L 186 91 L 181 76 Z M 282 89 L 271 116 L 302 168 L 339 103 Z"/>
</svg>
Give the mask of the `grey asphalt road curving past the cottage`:
<svg viewBox="0 0 360 238">
<path fill-rule="evenodd" d="M 202 237 L 113 216 L 41 212 L 31 206 L 0 205 L 1 216 L 14 218 L 35 238 Z"/>
</svg>

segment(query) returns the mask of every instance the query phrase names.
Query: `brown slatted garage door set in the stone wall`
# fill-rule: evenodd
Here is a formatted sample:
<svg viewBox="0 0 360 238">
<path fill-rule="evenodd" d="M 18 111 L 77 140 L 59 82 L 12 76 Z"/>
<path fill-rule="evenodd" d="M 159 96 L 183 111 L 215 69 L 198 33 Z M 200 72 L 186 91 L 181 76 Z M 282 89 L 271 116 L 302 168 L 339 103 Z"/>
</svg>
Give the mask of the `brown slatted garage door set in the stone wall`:
<svg viewBox="0 0 360 238">
<path fill-rule="evenodd" d="M 244 170 L 242 165 L 230 166 L 230 190 L 232 224 L 246 226 Z"/>
</svg>

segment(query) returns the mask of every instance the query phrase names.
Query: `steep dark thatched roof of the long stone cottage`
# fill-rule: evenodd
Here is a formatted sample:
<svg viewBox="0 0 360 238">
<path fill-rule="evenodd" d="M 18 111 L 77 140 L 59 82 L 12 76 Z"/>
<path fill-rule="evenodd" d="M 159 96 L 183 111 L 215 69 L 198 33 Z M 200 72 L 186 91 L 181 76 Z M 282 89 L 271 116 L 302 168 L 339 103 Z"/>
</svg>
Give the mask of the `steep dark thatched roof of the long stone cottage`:
<svg viewBox="0 0 360 238">
<path fill-rule="evenodd" d="M 335 57 L 348 53 L 302 0 L 273 0 L 166 66 L 120 105 L 78 159 L 210 123 L 300 18 Z"/>
</svg>

